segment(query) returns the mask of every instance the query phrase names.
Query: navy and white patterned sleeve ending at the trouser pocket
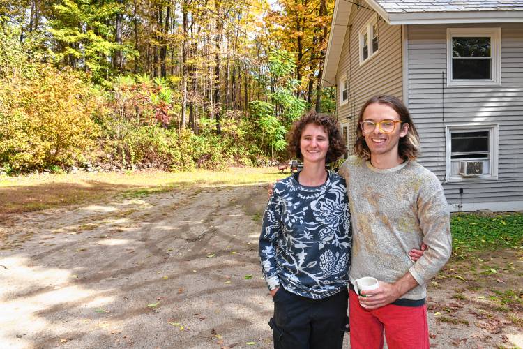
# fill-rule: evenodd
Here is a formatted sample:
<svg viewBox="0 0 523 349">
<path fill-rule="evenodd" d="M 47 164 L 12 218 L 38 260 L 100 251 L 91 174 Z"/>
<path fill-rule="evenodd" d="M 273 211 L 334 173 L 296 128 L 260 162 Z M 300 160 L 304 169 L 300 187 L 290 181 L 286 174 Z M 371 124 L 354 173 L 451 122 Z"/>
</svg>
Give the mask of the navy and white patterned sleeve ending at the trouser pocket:
<svg viewBox="0 0 523 349">
<path fill-rule="evenodd" d="M 280 286 L 276 248 L 278 248 L 278 237 L 280 237 L 281 232 L 282 206 L 282 198 L 276 190 L 273 191 L 265 209 L 259 236 L 261 272 L 264 274 L 269 290 L 274 290 Z"/>
</svg>

